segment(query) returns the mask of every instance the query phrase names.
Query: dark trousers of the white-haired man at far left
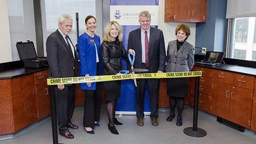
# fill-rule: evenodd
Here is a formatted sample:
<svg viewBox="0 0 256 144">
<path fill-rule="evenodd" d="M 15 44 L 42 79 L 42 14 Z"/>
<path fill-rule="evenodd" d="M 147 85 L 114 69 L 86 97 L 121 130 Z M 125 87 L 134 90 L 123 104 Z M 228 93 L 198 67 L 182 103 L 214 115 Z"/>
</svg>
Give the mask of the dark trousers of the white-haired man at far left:
<svg viewBox="0 0 256 144">
<path fill-rule="evenodd" d="M 58 90 L 57 85 L 54 86 L 56 99 L 56 112 L 59 125 L 59 132 L 68 131 L 67 125 L 71 123 L 76 99 L 76 84 L 66 86 L 62 91 Z"/>
</svg>

